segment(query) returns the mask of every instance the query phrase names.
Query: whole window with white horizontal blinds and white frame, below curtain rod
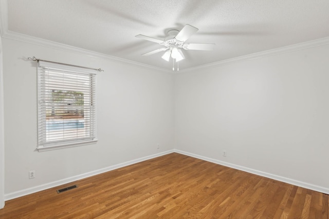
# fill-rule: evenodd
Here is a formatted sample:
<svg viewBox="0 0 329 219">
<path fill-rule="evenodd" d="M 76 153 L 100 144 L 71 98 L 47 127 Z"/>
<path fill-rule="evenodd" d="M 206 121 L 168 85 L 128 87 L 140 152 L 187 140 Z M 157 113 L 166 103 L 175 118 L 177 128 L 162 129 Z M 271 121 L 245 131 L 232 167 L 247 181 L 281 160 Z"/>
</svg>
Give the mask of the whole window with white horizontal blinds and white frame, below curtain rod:
<svg viewBox="0 0 329 219">
<path fill-rule="evenodd" d="M 39 62 L 39 151 L 97 141 L 95 85 L 92 70 Z"/>
</svg>

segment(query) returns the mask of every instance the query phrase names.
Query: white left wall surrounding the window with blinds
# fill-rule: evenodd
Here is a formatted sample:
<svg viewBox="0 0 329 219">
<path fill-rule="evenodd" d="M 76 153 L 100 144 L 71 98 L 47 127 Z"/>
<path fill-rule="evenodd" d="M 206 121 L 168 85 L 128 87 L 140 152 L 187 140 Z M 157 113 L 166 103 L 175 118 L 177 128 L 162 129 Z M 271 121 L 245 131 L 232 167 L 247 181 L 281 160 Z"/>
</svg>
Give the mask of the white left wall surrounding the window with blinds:
<svg viewBox="0 0 329 219">
<path fill-rule="evenodd" d="M 173 75 L 8 38 L 3 39 L 3 52 L 6 199 L 173 150 Z M 27 61 L 32 56 L 105 70 L 97 76 L 97 144 L 35 150 L 37 63 Z M 28 179 L 29 170 L 35 170 L 34 179 Z"/>
</svg>

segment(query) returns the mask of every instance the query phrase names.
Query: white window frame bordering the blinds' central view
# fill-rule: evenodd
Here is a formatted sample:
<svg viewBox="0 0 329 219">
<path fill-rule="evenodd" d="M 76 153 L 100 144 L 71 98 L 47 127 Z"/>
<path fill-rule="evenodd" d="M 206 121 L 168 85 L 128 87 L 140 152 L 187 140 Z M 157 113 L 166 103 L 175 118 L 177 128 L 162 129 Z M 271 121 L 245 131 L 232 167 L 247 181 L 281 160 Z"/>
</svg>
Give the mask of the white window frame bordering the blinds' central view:
<svg viewBox="0 0 329 219">
<path fill-rule="evenodd" d="M 44 100 L 42 99 L 42 94 L 41 92 L 45 92 L 46 89 L 46 85 L 45 85 L 45 74 L 46 71 L 63 71 L 65 73 L 64 74 L 83 74 L 83 75 L 89 75 L 90 77 L 90 82 L 92 82 L 93 84 L 90 85 L 90 87 L 88 87 L 90 89 L 90 100 L 89 105 L 87 105 L 85 103 L 85 101 L 83 102 L 82 108 L 85 108 L 86 106 L 88 108 L 90 108 L 88 110 L 88 113 L 90 114 L 90 118 L 89 118 L 89 131 L 90 131 L 90 135 L 89 136 L 84 136 L 84 137 L 77 137 L 75 138 L 70 138 L 70 139 L 65 139 L 65 137 L 62 140 L 58 140 L 58 141 L 52 141 L 52 140 L 45 140 L 45 135 L 49 132 L 49 123 L 48 123 L 48 131 L 47 131 L 47 105 L 44 102 Z M 42 75 L 44 74 L 44 75 Z M 54 64 L 54 63 L 49 63 L 49 62 L 44 62 L 44 61 L 38 61 L 38 97 L 37 97 L 37 101 L 38 101 L 38 145 L 37 145 L 37 149 L 39 152 L 41 151 L 49 151 L 49 150 L 56 150 L 56 149 L 63 149 L 63 148 L 70 148 L 70 147 L 77 147 L 77 146 L 83 146 L 83 145 L 90 145 L 90 144 L 96 144 L 97 140 L 97 124 L 96 124 L 96 75 L 97 75 L 97 71 L 95 70 L 90 70 L 90 69 L 84 69 L 84 68 L 80 68 L 80 67 L 72 67 L 72 66 L 67 66 L 67 65 L 62 65 L 62 64 Z M 64 77 L 64 76 L 63 76 Z M 66 91 L 65 85 L 61 88 L 59 88 L 58 90 L 65 90 Z M 49 88 L 48 88 L 49 89 Z M 77 92 L 83 92 L 79 89 L 83 89 L 82 87 L 77 89 Z M 68 104 L 70 105 L 70 104 Z M 85 110 L 85 109 L 84 109 Z M 67 112 L 68 113 L 68 112 Z M 84 116 L 84 115 L 83 115 Z M 48 118 L 49 120 L 49 118 Z M 65 124 L 65 118 L 62 119 L 63 124 Z M 85 122 L 83 123 L 85 126 Z M 63 125 L 63 132 L 65 132 L 65 125 Z M 78 129 L 78 127 L 77 127 Z M 85 130 L 87 130 L 85 128 Z M 49 133 L 48 133 L 49 134 Z M 44 141 L 42 141 L 41 139 L 43 139 Z"/>
</svg>

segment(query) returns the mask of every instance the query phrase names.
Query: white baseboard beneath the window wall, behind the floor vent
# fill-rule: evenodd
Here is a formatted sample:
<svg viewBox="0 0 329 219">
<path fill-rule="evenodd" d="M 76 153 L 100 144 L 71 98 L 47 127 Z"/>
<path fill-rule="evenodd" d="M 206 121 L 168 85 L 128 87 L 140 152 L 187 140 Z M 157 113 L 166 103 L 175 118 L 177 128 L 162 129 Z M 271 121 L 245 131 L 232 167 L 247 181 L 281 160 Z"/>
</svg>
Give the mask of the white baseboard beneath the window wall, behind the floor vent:
<svg viewBox="0 0 329 219">
<path fill-rule="evenodd" d="M 150 160 L 152 158 L 162 156 L 162 155 L 166 155 L 166 154 L 170 154 L 170 153 L 173 153 L 173 152 L 174 152 L 174 150 L 169 150 L 169 151 L 165 151 L 165 152 L 161 152 L 161 153 L 156 153 L 156 154 L 152 154 L 152 155 L 149 155 L 149 156 L 144 156 L 144 157 L 132 160 L 132 161 L 127 161 L 127 162 L 124 162 L 124 163 L 121 163 L 121 164 L 116 164 L 116 165 L 113 165 L 113 166 L 105 167 L 105 168 L 102 168 L 102 169 L 99 169 L 99 170 L 94 170 L 94 171 L 83 173 L 83 174 L 80 174 L 80 175 L 64 178 L 63 180 L 59 180 L 59 181 L 43 184 L 43 185 L 40 185 L 40 186 L 35 186 L 35 187 L 32 187 L 32 188 L 27 188 L 27 189 L 15 191 L 15 192 L 12 192 L 12 193 L 8 193 L 8 194 L 5 194 L 5 201 L 12 200 L 13 198 L 17 198 L 17 197 L 22 197 L 24 195 L 32 194 L 34 192 L 40 192 L 42 190 L 50 189 L 50 188 L 57 187 L 57 186 L 60 186 L 60 185 L 63 185 L 63 184 L 71 183 L 71 182 L 74 182 L 74 181 L 77 181 L 77 180 L 82 180 L 83 178 L 87 178 L 87 177 L 94 176 L 94 175 L 97 175 L 97 174 L 100 174 L 100 173 L 104 173 L 104 172 L 115 170 L 115 169 L 118 169 L 118 168 L 121 168 L 121 167 L 129 166 L 129 165 L 132 165 L 132 164 L 136 164 L 136 163 L 139 163 L 139 162 L 142 162 L 142 161 L 147 161 L 147 160 Z"/>
</svg>

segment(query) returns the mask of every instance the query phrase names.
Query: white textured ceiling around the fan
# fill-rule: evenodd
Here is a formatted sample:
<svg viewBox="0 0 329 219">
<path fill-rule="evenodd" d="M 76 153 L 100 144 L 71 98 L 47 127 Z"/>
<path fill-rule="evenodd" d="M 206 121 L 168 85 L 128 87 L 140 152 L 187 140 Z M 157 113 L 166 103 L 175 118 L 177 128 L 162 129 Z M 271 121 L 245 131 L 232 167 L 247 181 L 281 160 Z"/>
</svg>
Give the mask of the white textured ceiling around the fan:
<svg viewBox="0 0 329 219">
<path fill-rule="evenodd" d="M 162 46 L 135 35 L 163 39 L 168 30 L 190 24 L 199 31 L 187 42 L 216 44 L 213 51 L 185 50 L 180 69 L 329 36 L 328 0 L 1 1 L 2 34 L 26 34 L 163 69 L 172 68 L 161 59 L 164 52 L 140 55 Z"/>
</svg>

